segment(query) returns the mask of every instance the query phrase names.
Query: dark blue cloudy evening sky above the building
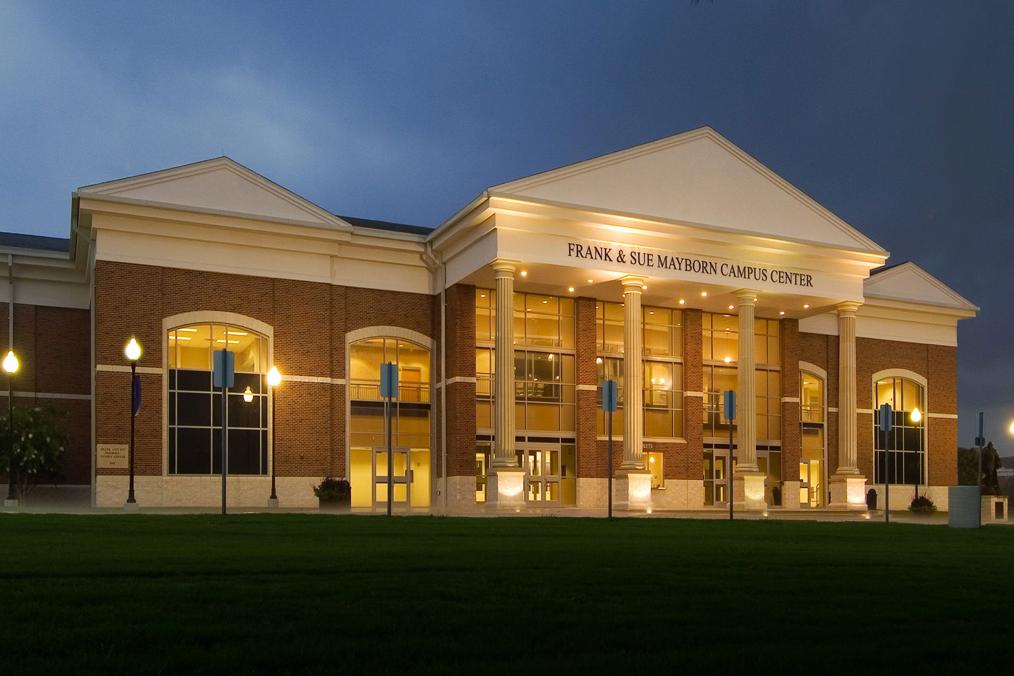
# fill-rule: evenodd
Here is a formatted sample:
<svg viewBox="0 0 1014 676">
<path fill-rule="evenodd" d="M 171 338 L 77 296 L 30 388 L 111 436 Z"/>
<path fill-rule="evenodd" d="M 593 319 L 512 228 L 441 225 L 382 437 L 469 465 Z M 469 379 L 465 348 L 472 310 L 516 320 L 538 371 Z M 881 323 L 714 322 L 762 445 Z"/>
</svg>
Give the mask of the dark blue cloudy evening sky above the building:
<svg viewBox="0 0 1014 676">
<path fill-rule="evenodd" d="M 170 6 L 171 4 L 171 6 Z M 223 152 L 354 216 L 711 125 L 982 307 L 960 435 L 1014 419 L 1014 3 L 0 1 L 0 229 Z"/>
</svg>

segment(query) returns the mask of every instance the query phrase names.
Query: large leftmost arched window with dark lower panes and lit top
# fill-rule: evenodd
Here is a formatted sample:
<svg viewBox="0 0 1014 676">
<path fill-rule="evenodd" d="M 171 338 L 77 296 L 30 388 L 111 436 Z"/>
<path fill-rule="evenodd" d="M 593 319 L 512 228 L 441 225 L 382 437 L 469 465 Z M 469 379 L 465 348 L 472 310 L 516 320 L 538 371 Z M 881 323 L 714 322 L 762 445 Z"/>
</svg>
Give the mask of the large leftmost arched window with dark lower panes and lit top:
<svg viewBox="0 0 1014 676">
<path fill-rule="evenodd" d="M 203 323 L 166 334 L 169 474 L 222 471 L 222 394 L 212 387 L 212 352 L 223 347 L 234 353 L 236 371 L 226 401 L 228 474 L 268 474 L 268 339 Z"/>
</svg>

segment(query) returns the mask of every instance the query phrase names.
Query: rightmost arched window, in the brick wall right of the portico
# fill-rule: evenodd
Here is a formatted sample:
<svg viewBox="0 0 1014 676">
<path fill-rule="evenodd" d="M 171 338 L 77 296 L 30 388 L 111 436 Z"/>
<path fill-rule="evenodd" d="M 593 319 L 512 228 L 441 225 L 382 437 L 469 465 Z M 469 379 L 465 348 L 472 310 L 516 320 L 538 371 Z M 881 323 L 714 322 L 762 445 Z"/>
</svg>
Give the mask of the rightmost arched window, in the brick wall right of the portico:
<svg viewBox="0 0 1014 676">
<path fill-rule="evenodd" d="M 901 376 L 879 378 L 873 385 L 874 393 L 874 482 L 884 481 L 886 460 L 887 479 L 891 483 L 921 485 L 926 473 L 926 388 L 917 381 Z M 890 404 L 894 411 L 891 430 L 880 431 L 876 411 L 881 404 Z M 915 416 L 919 408 L 922 415 Z"/>
</svg>

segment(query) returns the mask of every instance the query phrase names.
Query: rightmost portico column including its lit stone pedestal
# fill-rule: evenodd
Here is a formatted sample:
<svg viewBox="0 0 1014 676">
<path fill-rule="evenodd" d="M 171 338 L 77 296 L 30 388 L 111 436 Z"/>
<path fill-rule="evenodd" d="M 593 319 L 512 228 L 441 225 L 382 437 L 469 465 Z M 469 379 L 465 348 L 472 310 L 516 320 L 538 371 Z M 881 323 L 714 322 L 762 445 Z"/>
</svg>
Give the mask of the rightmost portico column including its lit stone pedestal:
<svg viewBox="0 0 1014 676">
<path fill-rule="evenodd" d="M 838 471 L 828 481 L 829 508 L 866 508 L 866 478 L 859 473 L 856 404 L 856 311 L 859 302 L 838 306 Z"/>
</svg>

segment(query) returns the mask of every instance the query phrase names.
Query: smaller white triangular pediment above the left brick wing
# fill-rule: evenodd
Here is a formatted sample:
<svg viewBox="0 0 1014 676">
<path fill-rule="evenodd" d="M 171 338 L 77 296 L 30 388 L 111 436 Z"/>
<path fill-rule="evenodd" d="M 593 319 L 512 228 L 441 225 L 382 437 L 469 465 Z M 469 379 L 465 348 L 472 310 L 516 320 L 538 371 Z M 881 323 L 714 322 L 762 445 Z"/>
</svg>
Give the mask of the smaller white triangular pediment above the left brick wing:
<svg viewBox="0 0 1014 676">
<path fill-rule="evenodd" d="M 86 186 L 78 195 L 352 229 L 338 216 L 228 157 Z"/>
</svg>

